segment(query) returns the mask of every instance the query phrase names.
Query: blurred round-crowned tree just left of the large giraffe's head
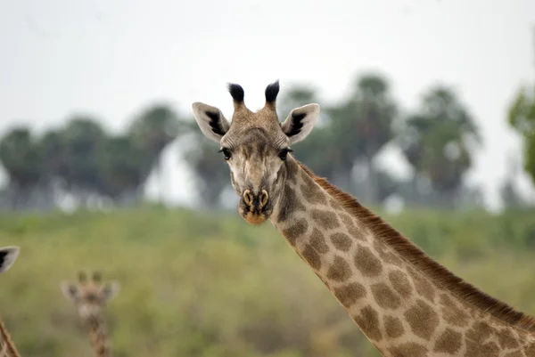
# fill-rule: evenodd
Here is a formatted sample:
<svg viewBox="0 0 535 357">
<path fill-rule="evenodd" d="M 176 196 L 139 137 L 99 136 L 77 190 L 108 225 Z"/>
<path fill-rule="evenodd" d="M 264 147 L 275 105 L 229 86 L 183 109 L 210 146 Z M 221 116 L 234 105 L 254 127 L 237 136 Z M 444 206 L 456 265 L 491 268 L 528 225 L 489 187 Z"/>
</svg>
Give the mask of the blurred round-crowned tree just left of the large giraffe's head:
<svg viewBox="0 0 535 357">
<path fill-rule="evenodd" d="M 167 104 L 154 104 L 134 119 L 129 134 L 147 155 L 143 181 L 151 174 L 152 169 L 156 169 L 160 185 L 162 184 L 161 152 L 177 138 L 178 125 L 177 114 Z M 162 195 L 163 187 L 160 187 L 160 192 Z"/>
</svg>

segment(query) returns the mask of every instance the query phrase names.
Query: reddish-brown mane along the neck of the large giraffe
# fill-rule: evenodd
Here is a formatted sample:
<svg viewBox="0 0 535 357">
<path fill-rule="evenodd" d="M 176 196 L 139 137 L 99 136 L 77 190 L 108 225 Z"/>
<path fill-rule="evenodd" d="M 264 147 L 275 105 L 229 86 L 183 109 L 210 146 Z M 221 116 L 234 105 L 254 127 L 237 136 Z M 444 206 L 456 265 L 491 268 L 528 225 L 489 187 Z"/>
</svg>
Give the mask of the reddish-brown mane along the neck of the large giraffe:
<svg viewBox="0 0 535 357">
<path fill-rule="evenodd" d="M 336 199 L 351 215 L 365 223 L 366 227 L 373 231 L 375 236 L 382 239 L 389 247 L 392 247 L 409 264 L 424 272 L 437 285 L 447 288 L 466 303 L 476 306 L 483 312 L 490 313 L 499 320 L 503 320 L 519 329 L 535 331 L 535 318 L 515 310 L 512 306 L 482 292 L 479 288 L 475 288 L 472 284 L 449 272 L 446 267 L 426 256 L 424 251 L 416 247 L 412 241 L 404 237 L 399 231 L 392 228 L 390 224 L 383 221 L 381 217 L 374 215 L 373 212 L 362 206 L 352 195 L 340 190 L 325 178 L 313 174 L 300 161 L 297 161 L 297 163 L 306 174 L 309 174 L 321 188 L 333 199 Z"/>
</svg>

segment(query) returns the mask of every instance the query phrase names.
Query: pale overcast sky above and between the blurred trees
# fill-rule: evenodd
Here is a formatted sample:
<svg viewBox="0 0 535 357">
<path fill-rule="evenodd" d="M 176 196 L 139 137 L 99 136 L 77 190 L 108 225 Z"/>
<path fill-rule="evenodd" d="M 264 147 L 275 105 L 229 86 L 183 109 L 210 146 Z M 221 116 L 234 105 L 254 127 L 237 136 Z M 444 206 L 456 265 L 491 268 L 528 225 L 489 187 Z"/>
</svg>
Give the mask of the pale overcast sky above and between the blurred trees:
<svg viewBox="0 0 535 357">
<path fill-rule="evenodd" d="M 282 92 L 313 85 L 327 103 L 373 69 L 406 110 L 437 82 L 457 89 L 484 139 L 470 181 L 496 207 L 506 159 L 521 155 L 506 109 L 534 79 L 533 25 L 533 0 L 4 0 L 0 133 L 73 113 L 119 130 L 153 101 L 188 115 L 205 101 L 230 117 L 227 82 L 243 85 L 253 110 L 276 78 Z M 173 150 L 169 200 L 184 201 L 191 175 Z M 386 162 L 404 168 L 395 153 Z"/>
</svg>

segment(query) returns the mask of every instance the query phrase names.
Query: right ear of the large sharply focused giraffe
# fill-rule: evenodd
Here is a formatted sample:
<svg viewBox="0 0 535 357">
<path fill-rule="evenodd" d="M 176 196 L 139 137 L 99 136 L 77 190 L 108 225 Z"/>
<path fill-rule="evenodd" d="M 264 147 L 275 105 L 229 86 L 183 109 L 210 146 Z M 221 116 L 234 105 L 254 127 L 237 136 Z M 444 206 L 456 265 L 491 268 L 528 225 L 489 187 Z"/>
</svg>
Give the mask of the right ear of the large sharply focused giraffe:
<svg viewBox="0 0 535 357">
<path fill-rule="evenodd" d="M 319 117 L 319 104 L 307 104 L 290 112 L 281 124 L 290 143 L 300 142 L 310 134 Z"/>
</svg>

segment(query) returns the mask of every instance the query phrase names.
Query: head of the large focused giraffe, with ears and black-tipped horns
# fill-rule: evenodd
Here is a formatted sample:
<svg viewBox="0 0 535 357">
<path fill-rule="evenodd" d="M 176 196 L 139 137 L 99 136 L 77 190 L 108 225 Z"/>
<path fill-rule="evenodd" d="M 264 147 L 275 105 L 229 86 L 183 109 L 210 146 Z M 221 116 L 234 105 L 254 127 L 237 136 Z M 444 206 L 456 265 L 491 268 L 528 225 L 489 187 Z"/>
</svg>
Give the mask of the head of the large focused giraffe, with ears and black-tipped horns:
<svg viewBox="0 0 535 357">
<path fill-rule="evenodd" d="M 238 212 L 248 223 L 266 222 L 281 196 L 287 177 L 284 161 L 291 145 L 303 140 L 319 116 L 319 105 L 292 110 L 284 122 L 276 113 L 278 81 L 266 88 L 266 104 L 253 112 L 245 106 L 240 85 L 228 85 L 234 100 L 229 122 L 221 110 L 202 102 L 193 103 L 193 115 L 202 133 L 218 142 L 230 167 L 230 182 L 240 196 Z"/>
</svg>

